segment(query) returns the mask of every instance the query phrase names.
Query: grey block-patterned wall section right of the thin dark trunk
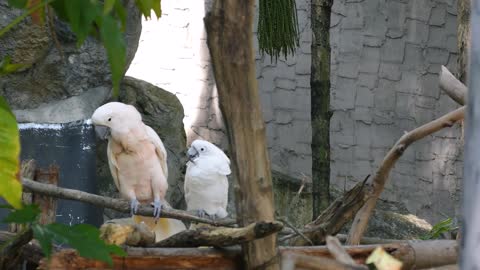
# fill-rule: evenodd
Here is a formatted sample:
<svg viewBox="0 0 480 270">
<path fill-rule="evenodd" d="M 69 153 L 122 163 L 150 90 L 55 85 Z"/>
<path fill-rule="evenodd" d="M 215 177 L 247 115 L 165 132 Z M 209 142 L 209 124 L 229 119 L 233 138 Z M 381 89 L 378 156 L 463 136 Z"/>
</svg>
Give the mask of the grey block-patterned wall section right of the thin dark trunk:
<svg viewBox="0 0 480 270">
<path fill-rule="evenodd" d="M 335 0 L 331 17 L 331 180 L 351 186 L 381 163 L 404 131 L 458 106 L 438 88 L 456 70 L 456 1 Z M 383 198 L 435 222 L 457 212 L 461 127 L 410 146 Z"/>
</svg>

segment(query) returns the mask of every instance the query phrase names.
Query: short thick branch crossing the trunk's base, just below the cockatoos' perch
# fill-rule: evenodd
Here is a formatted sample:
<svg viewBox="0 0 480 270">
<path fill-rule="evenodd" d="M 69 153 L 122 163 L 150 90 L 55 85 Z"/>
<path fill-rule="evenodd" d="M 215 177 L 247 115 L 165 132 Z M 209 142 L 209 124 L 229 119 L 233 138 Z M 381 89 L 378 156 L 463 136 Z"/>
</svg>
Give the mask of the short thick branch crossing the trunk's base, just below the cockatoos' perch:
<svg viewBox="0 0 480 270">
<path fill-rule="evenodd" d="M 261 239 L 283 228 L 281 222 L 256 222 L 243 228 L 199 227 L 179 232 L 155 243 L 155 247 L 226 247 Z"/>
</svg>

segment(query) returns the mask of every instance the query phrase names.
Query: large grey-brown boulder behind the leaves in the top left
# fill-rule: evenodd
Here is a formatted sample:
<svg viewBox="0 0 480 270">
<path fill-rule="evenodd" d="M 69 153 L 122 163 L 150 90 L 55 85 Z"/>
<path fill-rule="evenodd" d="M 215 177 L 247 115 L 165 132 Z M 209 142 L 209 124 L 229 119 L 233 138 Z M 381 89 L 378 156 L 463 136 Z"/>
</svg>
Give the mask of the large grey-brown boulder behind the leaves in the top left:
<svg viewBox="0 0 480 270">
<path fill-rule="evenodd" d="M 128 69 L 142 27 L 135 1 L 125 0 L 125 3 Z M 0 27 L 5 27 L 21 13 L 21 10 L 10 8 L 6 0 L 0 0 Z M 13 109 L 35 109 L 92 88 L 111 86 L 110 67 L 102 44 L 88 38 L 78 48 L 75 35 L 65 23 L 54 20 L 53 25 L 53 29 L 48 23 L 34 25 L 28 18 L 0 39 L 0 56 L 8 55 L 13 63 L 26 65 L 23 70 L 0 78 L 0 95 Z"/>
</svg>

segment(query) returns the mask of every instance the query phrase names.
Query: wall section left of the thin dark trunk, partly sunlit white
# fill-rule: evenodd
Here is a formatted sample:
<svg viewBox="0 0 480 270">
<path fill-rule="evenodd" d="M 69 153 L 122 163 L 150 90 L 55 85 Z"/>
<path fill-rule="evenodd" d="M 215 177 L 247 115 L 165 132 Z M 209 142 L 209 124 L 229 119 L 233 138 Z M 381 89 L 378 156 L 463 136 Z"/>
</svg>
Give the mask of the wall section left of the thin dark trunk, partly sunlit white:
<svg viewBox="0 0 480 270">
<path fill-rule="evenodd" d="M 223 119 L 203 24 L 211 0 L 163 1 L 160 20 L 144 21 L 127 74 L 175 93 L 185 110 L 188 143 L 197 137 L 225 148 Z M 297 0 L 301 46 L 287 60 L 257 52 L 257 78 L 272 167 L 311 175 L 310 1 Z M 255 24 L 256 30 L 256 24 Z M 255 46 L 258 48 L 256 36 Z M 257 50 L 258 51 L 258 50 Z"/>
</svg>

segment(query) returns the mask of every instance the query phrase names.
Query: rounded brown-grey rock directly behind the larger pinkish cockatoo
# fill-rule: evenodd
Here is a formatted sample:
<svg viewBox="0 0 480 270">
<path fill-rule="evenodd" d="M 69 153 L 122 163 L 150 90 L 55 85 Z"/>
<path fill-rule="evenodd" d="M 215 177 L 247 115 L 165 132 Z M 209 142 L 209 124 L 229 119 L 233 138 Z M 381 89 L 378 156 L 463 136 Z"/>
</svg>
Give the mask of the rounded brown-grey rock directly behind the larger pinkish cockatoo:
<svg viewBox="0 0 480 270">
<path fill-rule="evenodd" d="M 168 155 L 167 200 L 174 208 L 185 208 L 183 181 L 186 164 L 186 136 L 183 128 L 183 107 L 175 95 L 148 82 L 125 77 L 118 101 L 131 104 L 142 114 L 143 122 L 151 126 L 165 145 Z M 117 197 L 107 164 L 106 143 L 97 144 L 97 178 L 100 192 Z M 107 218 L 123 215 L 105 210 Z"/>
</svg>

